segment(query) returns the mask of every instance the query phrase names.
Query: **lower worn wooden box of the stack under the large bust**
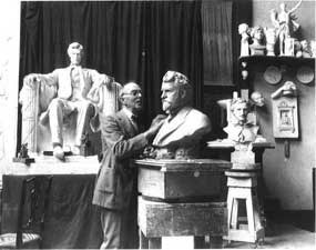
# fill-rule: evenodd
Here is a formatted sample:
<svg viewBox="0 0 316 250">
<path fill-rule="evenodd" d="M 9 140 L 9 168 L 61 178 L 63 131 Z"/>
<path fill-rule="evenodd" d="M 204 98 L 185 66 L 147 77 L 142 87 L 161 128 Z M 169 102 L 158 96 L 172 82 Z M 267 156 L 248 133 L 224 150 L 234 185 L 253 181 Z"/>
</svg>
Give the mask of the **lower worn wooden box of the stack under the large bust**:
<svg viewBox="0 0 316 250">
<path fill-rule="evenodd" d="M 146 238 L 224 236 L 226 202 L 166 203 L 140 197 L 139 227 Z"/>
</svg>

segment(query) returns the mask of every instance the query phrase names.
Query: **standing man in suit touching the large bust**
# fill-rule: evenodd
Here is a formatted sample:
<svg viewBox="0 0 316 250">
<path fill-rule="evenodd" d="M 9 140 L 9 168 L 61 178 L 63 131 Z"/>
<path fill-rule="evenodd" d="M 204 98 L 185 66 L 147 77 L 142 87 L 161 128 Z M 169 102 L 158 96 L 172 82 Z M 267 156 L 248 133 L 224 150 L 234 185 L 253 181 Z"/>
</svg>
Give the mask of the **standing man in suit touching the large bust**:
<svg viewBox="0 0 316 250">
<path fill-rule="evenodd" d="M 136 118 L 142 109 L 142 91 L 136 83 L 126 83 L 120 99 L 122 110 L 102 122 L 105 150 L 92 201 L 101 210 L 101 249 L 137 248 L 137 176 L 130 160 L 142 152 L 162 124 L 157 117 L 149 130 L 141 132 Z"/>
</svg>

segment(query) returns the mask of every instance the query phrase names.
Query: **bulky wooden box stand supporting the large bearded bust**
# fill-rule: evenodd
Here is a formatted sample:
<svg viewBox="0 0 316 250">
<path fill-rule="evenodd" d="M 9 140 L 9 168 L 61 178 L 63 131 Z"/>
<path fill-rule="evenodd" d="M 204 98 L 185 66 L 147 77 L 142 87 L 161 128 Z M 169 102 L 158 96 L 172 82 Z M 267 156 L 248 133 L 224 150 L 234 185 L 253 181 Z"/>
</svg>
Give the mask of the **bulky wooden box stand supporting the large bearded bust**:
<svg viewBox="0 0 316 250">
<path fill-rule="evenodd" d="M 195 248 L 227 232 L 223 160 L 135 160 L 142 248 L 161 248 L 162 237 L 193 236 Z M 222 244 L 222 242 L 220 242 Z M 218 248 L 218 246 L 213 246 Z"/>
</svg>

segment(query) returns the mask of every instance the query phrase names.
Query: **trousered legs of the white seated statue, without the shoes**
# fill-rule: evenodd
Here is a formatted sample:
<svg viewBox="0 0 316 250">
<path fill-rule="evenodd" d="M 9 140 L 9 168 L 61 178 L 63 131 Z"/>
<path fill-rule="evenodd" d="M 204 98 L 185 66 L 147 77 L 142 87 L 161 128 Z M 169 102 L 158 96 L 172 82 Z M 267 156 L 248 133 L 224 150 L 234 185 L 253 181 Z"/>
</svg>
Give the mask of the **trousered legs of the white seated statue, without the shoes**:
<svg viewBox="0 0 316 250">
<path fill-rule="evenodd" d="M 55 98 L 49 106 L 49 120 L 52 143 L 63 143 L 62 126 L 63 118 L 77 111 L 77 127 L 75 127 L 75 146 L 81 146 L 82 134 L 88 128 L 89 120 L 94 113 L 93 104 L 88 100 L 70 101 L 62 98 Z"/>
</svg>

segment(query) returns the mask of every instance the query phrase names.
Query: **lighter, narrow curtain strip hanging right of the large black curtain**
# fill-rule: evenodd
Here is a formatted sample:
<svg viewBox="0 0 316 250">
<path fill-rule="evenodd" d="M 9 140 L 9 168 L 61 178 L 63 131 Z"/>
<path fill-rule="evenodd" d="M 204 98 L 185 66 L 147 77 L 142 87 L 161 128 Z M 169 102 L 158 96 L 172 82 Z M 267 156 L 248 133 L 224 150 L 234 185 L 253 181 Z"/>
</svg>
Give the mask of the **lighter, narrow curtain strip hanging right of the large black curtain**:
<svg viewBox="0 0 316 250">
<path fill-rule="evenodd" d="M 231 1 L 203 1 L 201 16 L 203 23 L 204 81 L 206 84 L 233 84 Z"/>
</svg>

